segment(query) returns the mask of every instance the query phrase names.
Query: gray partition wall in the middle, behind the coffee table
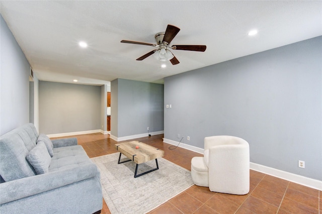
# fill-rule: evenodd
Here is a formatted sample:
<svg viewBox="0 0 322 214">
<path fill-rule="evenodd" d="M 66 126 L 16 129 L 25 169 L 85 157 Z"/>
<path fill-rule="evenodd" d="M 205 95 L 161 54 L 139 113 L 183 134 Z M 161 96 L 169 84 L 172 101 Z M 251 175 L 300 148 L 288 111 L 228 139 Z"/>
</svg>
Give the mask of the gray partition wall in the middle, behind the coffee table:
<svg viewBox="0 0 322 214">
<path fill-rule="evenodd" d="M 147 127 L 149 132 L 163 131 L 163 105 L 163 84 L 126 79 L 112 81 L 111 135 L 125 137 L 144 134 L 147 133 Z"/>
</svg>

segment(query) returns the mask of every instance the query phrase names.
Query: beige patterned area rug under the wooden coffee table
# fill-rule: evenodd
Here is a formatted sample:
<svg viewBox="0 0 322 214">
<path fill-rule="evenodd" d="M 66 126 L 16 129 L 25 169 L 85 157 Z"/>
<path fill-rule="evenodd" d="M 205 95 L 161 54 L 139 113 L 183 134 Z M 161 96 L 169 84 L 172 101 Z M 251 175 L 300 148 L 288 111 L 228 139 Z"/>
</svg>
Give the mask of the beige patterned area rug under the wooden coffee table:
<svg viewBox="0 0 322 214">
<path fill-rule="evenodd" d="M 101 171 L 103 197 L 111 213 L 146 213 L 193 185 L 191 172 L 164 158 L 159 169 L 134 178 L 133 161 L 118 164 L 120 153 L 91 158 Z M 127 158 L 122 155 L 121 161 Z M 139 164 L 138 174 L 155 168 L 155 160 Z"/>
</svg>

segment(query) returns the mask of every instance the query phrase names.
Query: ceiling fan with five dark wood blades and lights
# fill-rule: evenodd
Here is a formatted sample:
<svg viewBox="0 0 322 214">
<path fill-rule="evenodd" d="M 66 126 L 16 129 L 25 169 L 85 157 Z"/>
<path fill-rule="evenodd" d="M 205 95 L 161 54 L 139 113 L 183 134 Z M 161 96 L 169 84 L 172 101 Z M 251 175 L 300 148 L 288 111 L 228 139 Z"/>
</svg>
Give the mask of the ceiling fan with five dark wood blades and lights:
<svg viewBox="0 0 322 214">
<path fill-rule="evenodd" d="M 156 41 L 155 44 L 144 43 L 144 42 L 135 42 L 129 40 L 122 40 L 122 43 L 130 43 L 137 45 L 148 45 L 156 47 L 157 49 L 144 54 L 143 56 L 137 58 L 136 60 L 143 60 L 150 55 L 154 55 L 154 57 L 160 62 L 170 60 L 173 65 L 179 64 L 179 60 L 173 55 L 170 51 L 172 50 L 186 50 L 186 51 L 201 51 L 204 52 L 206 50 L 205 45 L 170 45 L 171 41 L 175 38 L 175 36 L 179 33 L 180 28 L 177 28 L 173 25 L 168 25 L 166 32 L 160 32 L 155 34 L 154 38 Z"/>
</svg>

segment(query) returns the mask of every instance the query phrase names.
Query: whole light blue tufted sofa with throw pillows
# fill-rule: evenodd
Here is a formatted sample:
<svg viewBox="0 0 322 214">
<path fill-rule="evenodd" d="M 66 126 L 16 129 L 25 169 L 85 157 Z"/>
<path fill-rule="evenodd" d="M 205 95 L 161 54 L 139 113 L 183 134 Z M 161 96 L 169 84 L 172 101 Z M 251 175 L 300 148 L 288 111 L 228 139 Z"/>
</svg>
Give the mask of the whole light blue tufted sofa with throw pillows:
<svg viewBox="0 0 322 214">
<path fill-rule="evenodd" d="M 77 139 L 46 136 L 50 151 L 39 136 L 33 124 L 1 136 L 0 213 L 100 213 L 100 172 Z"/>
</svg>

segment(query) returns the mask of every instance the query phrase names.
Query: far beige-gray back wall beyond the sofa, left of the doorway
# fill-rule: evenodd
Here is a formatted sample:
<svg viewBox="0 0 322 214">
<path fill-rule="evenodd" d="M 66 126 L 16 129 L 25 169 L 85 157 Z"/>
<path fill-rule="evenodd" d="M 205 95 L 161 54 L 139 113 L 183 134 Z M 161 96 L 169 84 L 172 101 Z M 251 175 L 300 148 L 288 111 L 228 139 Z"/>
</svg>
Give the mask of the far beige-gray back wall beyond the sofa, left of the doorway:
<svg viewBox="0 0 322 214">
<path fill-rule="evenodd" d="M 39 132 L 100 130 L 101 86 L 39 81 Z"/>
</svg>

